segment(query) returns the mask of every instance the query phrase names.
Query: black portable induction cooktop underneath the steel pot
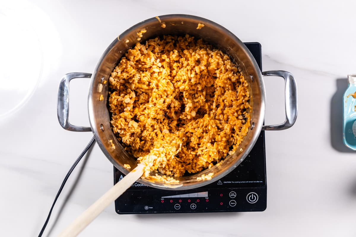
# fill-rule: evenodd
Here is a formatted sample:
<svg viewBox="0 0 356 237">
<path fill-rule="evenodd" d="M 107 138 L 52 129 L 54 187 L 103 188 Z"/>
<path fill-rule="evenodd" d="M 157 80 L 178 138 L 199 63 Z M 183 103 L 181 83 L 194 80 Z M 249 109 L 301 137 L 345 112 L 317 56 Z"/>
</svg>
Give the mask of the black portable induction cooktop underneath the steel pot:
<svg viewBox="0 0 356 237">
<path fill-rule="evenodd" d="M 245 43 L 261 67 L 261 45 Z M 123 177 L 114 167 L 114 184 Z M 267 203 L 265 132 L 234 171 L 219 181 L 189 190 L 162 190 L 132 184 L 115 200 L 119 214 L 264 211 Z"/>
</svg>

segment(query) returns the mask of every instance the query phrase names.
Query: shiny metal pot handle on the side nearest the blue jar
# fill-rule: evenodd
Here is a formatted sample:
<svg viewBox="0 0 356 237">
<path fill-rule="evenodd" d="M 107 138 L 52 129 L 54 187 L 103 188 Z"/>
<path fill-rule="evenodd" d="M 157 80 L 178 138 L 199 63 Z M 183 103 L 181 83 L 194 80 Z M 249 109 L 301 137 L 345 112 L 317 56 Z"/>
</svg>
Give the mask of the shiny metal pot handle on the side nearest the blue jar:
<svg viewBox="0 0 356 237">
<path fill-rule="evenodd" d="M 283 77 L 286 82 L 285 95 L 285 106 L 286 106 L 286 120 L 284 123 L 276 125 L 264 125 L 262 130 L 284 130 L 290 128 L 297 120 L 298 113 L 298 96 L 297 96 L 297 84 L 295 83 L 294 77 L 290 72 L 287 71 L 265 71 L 262 72 L 263 76 L 280 76 Z"/>
</svg>

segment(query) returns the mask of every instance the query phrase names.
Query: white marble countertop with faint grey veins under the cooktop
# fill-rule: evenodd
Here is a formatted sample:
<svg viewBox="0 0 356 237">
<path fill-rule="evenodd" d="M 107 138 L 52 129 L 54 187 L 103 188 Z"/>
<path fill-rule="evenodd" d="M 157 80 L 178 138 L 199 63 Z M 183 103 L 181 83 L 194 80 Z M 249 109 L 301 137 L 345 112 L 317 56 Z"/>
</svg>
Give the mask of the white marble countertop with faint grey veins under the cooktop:
<svg viewBox="0 0 356 237">
<path fill-rule="evenodd" d="M 342 144 L 341 131 L 346 75 L 356 73 L 355 9 L 352 0 L 1 2 L 0 235 L 38 235 L 64 175 L 92 136 L 58 124 L 61 77 L 92 72 L 112 40 L 137 22 L 184 13 L 260 42 L 263 69 L 289 71 L 297 81 L 297 122 L 266 132 L 267 210 L 117 215 L 112 204 L 80 236 L 355 236 L 356 154 Z M 89 124 L 88 82 L 71 82 L 73 124 Z M 268 77 L 265 83 L 266 123 L 282 122 L 284 82 Z M 112 176 L 95 145 L 70 177 L 44 236 L 50 230 L 48 236 L 57 236 L 112 186 Z"/>
</svg>

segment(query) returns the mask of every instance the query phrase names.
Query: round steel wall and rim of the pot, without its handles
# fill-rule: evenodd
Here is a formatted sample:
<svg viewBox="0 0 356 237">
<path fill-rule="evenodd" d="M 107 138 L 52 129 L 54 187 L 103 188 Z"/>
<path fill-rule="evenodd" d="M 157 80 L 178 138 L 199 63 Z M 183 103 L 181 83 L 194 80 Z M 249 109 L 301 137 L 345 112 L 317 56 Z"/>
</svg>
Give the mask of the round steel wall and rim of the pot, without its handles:
<svg viewBox="0 0 356 237">
<path fill-rule="evenodd" d="M 176 185 L 164 185 L 163 183 L 158 182 L 153 184 L 147 180 L 140 180 L 141 183 L 158 188 L 196 188 L 198 186 L 214 182 L 218 178 L 225 176 L 242 162 L 243 158 L 254 145 L 257 136 L 261 131 L 263 117 L 265 114 L 262 76 L 248 49 L 236 36 L 234 36 L 234 34 L 227 31 L 225 28 L 214 22 L 195 16 L 166 15 L 161 16 L 160 19 L 162 23 L 166 25 L 165 28 L 161 27 L 161 23 L 159 23 L 156 18 L 151 18 L 144 22 L 138 23 L 124 33 L 120 34 L 119 39 L 115 39 L 103 54 L 96 70 L 93 73 L 89 91 L 90 123 L 95 134 L 96 141 L 105 155 L 116 168 L 127 174 L 129 171 L 126 170 L 123 165 L 129 164 L 131 167 L 135 167 L 137 164 L 136 158 L 125 152 L 122 145 L 117 142 L 115 135 L 112 133 L 110 128 L 110 115 L 107 109 L 108 102 L 106 99 L 108 97 L 109 83 L 103 85 L 103 90 L 101 92 L 99 92 L 99 85 L 104 80 L 109 82 L 110 74 L 120 61 L 120 58 L 126 53 L 127 49 L 134 47 L 134 45 L 138 42 L 136 32 L 142 29 L 146 29 L 147 31 L 143 34 L 140 42 L 145 42 L 147 39 L 165 34 L 190 34 L 196 39 L 202 38 L 205 42 L 213 45 L 213 47 L 223 50 L 223 52 L 230 55 L 231 59 L 235 60 L 237 65 L 239 65 L 242 73 L 250 84 L 250 94 L 252 95 L 250 103 L 253 106 L 251 111 L 251 124 L 253 124 L 251 126 L 253 127 L 252 130 L 250 129 L 236 152 L 231 156 L 229 155 L 219 166 L 214 166 L 213 168 L 206 169 L 190 176 L 176 178 L 180 181 L 178 185 L 180 187 L 177 187 Z M 205 26 L 201 29 L 196 29 L 198 23 L 204 23 Z M 127 40 L 129 40 L 129 43 L 126 43 Z M 99 101 L 100 94 L 104 96 L 103 101 Z M 115 149 L 112 148 L 109 140 L 112 140 L 115 145 Z M 210 172 L 214 172 L 213 179 L 210 181 L 197 181 L 197 177 Z"/>
</svg>

